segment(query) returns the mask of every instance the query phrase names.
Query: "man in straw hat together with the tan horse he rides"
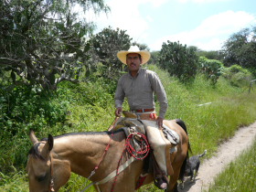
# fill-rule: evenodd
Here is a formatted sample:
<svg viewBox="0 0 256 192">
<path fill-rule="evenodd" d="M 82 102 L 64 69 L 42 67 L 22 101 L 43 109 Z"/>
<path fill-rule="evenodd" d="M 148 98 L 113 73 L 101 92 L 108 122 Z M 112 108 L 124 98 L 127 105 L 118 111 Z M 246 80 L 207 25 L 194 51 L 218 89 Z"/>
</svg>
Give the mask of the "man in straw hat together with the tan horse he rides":
<svg viewBox="0 0 256 192">
<path fill-rule="evenodd" d="M 115 123 L 121 125 L 118 123 L 121 120 L 130 125 L 134 120 L 138 124 L 135 123 L 135 126 L 129 128 L 144 126 L 155 158 L 151 154 L 150 159 L 144 161 L 136 161 L 137 158 L 131 157 L 123 162 L 124 152 L 130 143 L 127 144 L 125 133 L 119 130 L 67 133 L 55 137 L 48 134 L 48 139 L 42 141 L 31 131 L 30 140 L 33 146 L 29 150 L 27 160 L 30 192 L 57 192 L 69 181 L 71 172 L 91 180 L 91 184 L 83 191 L 93 185 L 101 192 L 134 192 L 138 187 L 153 180 L 161 189 L 166 188 L 168 192 L 177 191 L 177 179 L 183 178 L 188 157 L 186 125 L 181 120 L 164 120 L 167 101 L 163 85 L 155 72 L 141 68 L 141 65 L 150 59 L 148 51 L 132 47 L 128 51 L 120 51 L 118 58 L 128 65 L 129 73 L 119 80 L 115 94 L 115 113 L 121 116 L 124 97 L 127 97 L 133 113 L 123 112 L 125 118 L 118 118 Z M 154 93 L 160 102 L 158 117 L 155 113 Z M 129 118 L 126 118 L 127 114 Z M 139 123 L 143 125 L 140 126 Z M 162 130 L 168 139 L 165 139 Z M 144 138 L 143 135 L 142 137 Z M 146 149 L 149 148 L 147 144 L 145 146 Z M 153 164 L 152 159 L 156 160 Z M 145 169 L 144 165 L 149 165 L 145 162 L 151 163 L 153 172 L 148 167 Z"/>
</svg>

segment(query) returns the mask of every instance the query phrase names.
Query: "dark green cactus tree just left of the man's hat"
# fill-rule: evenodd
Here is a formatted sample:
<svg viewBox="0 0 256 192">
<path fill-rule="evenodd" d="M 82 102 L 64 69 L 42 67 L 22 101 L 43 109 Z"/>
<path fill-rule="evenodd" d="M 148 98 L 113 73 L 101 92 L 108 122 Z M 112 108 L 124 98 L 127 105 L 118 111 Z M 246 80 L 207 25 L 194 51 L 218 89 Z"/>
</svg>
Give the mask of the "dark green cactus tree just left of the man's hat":
<svg viewBox="0 0 256 192">
<path fill-rule="evenodd" d="M 116 80 L 123 70 L 123 63 L 117 59 L 116 54 L 119 50 L 130 48 L 133 38 L 126 34 L 125 30 L 112 27 L 104 28 L 100 33 L 91 37 L 91 69 L 99 69 L 99 62 L 103 65 L 101 76 L 107 79 Z"/>
</svg>

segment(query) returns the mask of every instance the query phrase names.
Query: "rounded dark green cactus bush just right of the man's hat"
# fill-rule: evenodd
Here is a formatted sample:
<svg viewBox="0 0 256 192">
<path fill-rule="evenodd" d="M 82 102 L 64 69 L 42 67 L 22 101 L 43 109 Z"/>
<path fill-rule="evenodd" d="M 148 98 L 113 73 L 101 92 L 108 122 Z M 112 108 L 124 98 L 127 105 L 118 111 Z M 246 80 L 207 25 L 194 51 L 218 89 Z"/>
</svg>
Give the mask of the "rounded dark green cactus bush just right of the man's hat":
<svg viewBox="0 0 256 192">
<path fill-rule="evenodd" d="M 197 74 L 197 55 L 194 48 L 187 48 L 179 42 L 167 41 L 158 55 L 158 65 L 170 75 L 184 82 L 194 80 Z"/>
</svg>

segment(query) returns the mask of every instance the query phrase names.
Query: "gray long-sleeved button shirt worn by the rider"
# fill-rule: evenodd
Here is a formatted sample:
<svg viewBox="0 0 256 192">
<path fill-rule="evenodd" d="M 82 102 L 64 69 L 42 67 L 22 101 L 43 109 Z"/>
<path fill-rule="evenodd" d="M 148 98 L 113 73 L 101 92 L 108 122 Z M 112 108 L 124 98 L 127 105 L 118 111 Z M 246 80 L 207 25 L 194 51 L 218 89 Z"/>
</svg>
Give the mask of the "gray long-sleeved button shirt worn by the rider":
<svg viewBox="0 0 256 192">
<path fill-rule="evenodd" d="M 122 107 L 126 97 L 130 110 L 152 109 L 155 108 L 154 94 L 160 104 L 158 116 L 165 118 L 168 103 L 163 84 L 154 71 L 140 68 L 136 77 L 126 73 L 118 81 L 115 107 Z"/>
</svg>

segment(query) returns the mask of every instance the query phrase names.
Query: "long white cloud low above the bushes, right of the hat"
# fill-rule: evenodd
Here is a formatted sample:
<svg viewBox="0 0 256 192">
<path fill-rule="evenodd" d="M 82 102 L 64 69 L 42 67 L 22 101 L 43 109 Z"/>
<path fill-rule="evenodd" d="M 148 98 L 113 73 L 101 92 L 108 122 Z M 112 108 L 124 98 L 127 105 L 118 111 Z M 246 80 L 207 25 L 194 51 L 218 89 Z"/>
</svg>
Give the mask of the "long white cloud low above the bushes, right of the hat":
<svg viewBox="0 0 256 192">
<path fill-rule="evenodd" d="M 225 40 L 240 29 L 256 24 L 256 17 L 239 11 L 227 11 L 209 16 L 197 28 L 168 37 L 162 37 L 149 45 L 152 50 L 160 50 L 167 40 L 179 41 L 187 46 L 196 46 L 204 50 L 219 50 Z"/>
</svg>

